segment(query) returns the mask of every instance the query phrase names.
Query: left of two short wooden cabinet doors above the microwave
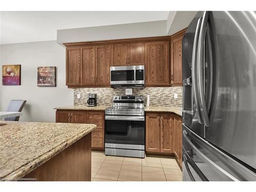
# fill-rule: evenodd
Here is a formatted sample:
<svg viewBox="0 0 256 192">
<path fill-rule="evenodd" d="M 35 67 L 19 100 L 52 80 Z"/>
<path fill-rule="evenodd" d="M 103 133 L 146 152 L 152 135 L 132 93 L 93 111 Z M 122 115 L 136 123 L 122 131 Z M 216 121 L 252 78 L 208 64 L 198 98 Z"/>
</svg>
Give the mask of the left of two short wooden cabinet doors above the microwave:
<svg viewBox="0 0 256 192">
<path fill-rule="evenodd" d="M 111 46 L 111 66 L 126 66 L 127 44 L 116 44 Z"/>
</svg>

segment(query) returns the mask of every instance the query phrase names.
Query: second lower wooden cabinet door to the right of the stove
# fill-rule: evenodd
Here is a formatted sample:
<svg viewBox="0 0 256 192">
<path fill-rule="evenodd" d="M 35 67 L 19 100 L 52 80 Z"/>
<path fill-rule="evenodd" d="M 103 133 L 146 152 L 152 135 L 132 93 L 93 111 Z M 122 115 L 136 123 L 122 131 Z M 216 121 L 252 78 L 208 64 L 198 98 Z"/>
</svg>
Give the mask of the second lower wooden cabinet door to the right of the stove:
<svg viewBox="0 0 256 192">
<path fill-rule="evenodd" d="M 160 151 L 173 153 L 174 145 L 174 119 L 173 114 L 161 114 Z"/>
</svg>

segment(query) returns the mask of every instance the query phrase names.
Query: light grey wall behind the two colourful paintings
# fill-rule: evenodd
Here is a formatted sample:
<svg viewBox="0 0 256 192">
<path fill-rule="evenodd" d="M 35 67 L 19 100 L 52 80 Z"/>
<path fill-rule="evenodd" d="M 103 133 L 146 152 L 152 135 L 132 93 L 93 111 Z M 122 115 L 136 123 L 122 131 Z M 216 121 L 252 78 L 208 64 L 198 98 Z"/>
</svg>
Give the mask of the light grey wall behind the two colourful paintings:
<svg viewBox="0 0 256 192">
<path fill-rule="evenodd" d="M 66 86 L 65 48 L 56 41 L 9 44 L 0 48 L 1 65 L 22 65 L 21 86 L 2 86 L 1 78 L 1 111 L 7 109 L 11 99 L 25 99 L 21 121 L 54 122 L 54 107 L 73 105 L 73 90 Z M 57 87 L 37 87 L 39 66 L 57 67 Z"/>
</svg>

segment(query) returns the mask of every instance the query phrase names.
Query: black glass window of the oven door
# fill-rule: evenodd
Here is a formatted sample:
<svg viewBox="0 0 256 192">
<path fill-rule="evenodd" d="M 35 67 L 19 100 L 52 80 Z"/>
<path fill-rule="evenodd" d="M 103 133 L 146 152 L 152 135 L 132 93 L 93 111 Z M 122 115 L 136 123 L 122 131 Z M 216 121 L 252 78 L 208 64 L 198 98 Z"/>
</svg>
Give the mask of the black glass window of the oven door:
<svg viewBox="0 0 256 192">
<path fill-rule="evenodd" d="M 145 145 L 145 121 L 105 120 L 105 143 Z"/>
</svg>

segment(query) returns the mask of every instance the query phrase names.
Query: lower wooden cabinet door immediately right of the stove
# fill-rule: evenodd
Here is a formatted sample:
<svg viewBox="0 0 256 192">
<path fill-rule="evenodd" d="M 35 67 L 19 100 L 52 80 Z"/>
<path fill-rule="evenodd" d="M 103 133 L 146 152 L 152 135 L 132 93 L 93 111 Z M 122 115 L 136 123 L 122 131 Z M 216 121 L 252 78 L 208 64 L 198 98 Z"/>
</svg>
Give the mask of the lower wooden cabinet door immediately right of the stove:
<svg viewBox="0 0 256 192">
<path fill-rule="evenodd" d="M 146 151 L 160 152 L 160 114 L 146 115 Z"/>
</svg>

